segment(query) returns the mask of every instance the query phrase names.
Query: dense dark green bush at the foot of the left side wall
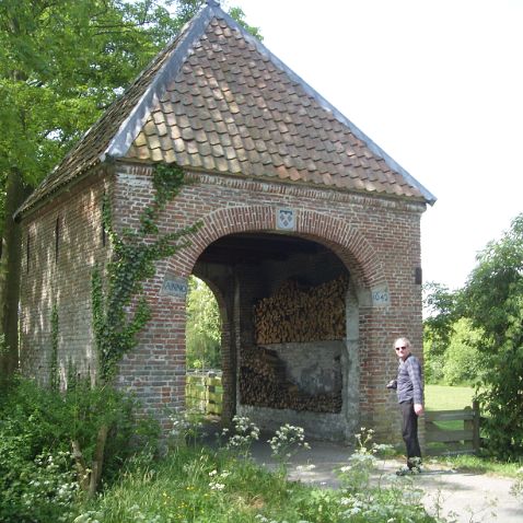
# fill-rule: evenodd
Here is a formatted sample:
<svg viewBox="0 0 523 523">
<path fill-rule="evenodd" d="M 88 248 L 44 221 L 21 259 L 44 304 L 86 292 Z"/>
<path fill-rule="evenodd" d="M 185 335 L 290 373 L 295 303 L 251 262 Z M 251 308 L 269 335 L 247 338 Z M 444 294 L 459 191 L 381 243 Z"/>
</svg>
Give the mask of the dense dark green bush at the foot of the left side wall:
<svg viewBox="0 0 523 523">
<path fill-rule="evenodd" d="M 16 380 L 0 404 L 0 521 L 67 520 L 79 493 L 71 442 L 90 464 L 98 428 L 107 423 L 103 478 L 108 481 L 131 455 L 136 434 L 153 442 L 154 427 L 137 422 L 135 410 L 131 399 L 109 387 L 82 382 L 60 394 Z"/>
</svg>

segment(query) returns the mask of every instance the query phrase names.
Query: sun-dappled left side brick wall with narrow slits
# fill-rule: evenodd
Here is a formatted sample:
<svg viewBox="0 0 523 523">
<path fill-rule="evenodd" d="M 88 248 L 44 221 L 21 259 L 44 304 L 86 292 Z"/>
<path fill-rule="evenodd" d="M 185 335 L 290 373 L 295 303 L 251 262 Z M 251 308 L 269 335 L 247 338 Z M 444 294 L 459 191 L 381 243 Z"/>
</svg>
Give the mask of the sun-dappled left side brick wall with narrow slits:
<svg viewBox="0 0 523 523">
<path fill-rule="evenodd" d="M 62 385 L 69 372 L 90 375 L 96 369 L 91 275 L 109 249 L 102 229 L 108 184 L 101 176 L 93 174 L 90 185 L 65 193 L 22 222 L 21 367 L 42 383 L 50 376 L 55 306 Z"/>
</svg>

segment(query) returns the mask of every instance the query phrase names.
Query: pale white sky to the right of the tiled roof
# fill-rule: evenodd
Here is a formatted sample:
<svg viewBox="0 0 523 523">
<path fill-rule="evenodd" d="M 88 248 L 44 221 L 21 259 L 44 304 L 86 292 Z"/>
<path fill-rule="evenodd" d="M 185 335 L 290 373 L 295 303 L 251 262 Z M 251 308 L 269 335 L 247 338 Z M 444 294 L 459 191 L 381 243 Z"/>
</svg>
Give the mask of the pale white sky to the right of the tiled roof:
<svg viewBox="0 0 523 523">
<path fill-rule="evenodd" d="M 523 0 L 230 0 L 427 187 L 423 280 L 465 283 L 523 211 Z"/>
</svg>

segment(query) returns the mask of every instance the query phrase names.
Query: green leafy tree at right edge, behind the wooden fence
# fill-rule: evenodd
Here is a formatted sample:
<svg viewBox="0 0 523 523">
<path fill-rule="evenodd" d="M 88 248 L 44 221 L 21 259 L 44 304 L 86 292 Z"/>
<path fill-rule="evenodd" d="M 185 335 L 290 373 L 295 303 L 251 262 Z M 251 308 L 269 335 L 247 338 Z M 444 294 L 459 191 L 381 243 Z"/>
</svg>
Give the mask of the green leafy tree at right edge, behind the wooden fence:
<svg viewBox="0 0 523 523">
<path fill-rule="evenodd" d="M 523 213 L 478 255 L 477 266 L 463 289 L 450 292 L 437 286 L 432 291 L 430 303 L 435 305 L 435 314 L 426 326 L 437 333 L 440 342 L 452 339 L 452 350 L 461 358 L 461 362 L 455 363 L 469 364 L 476 374 L 477 397 L 487 415 L 484 428 L 490 449 L 502 457 L 521 456 Z M 460 318 L 466 323 L 458 322 Z M 445 335 L 438 334 L 445 329 Z M 451 346 L 442 342 L 439 347 L 445 361 L 453 358 Z M 470 360 L 473 349 L 477 351 L 474 361 Z"/>
</svg>

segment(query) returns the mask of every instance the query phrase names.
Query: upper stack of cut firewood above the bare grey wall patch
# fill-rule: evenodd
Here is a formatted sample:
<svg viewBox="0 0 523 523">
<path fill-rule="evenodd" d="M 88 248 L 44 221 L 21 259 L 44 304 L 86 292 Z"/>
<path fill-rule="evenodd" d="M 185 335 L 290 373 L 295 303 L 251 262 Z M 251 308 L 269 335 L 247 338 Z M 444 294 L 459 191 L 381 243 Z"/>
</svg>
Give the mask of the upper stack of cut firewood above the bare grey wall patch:
<svg viewBox="0 0 523 523">
<path fill-rule="evenodd" d="M 254 307 L 259 345 L 342 339 L 345 327 L 345 276 L 310 289 L 286 281 Z"/>
</svg>

